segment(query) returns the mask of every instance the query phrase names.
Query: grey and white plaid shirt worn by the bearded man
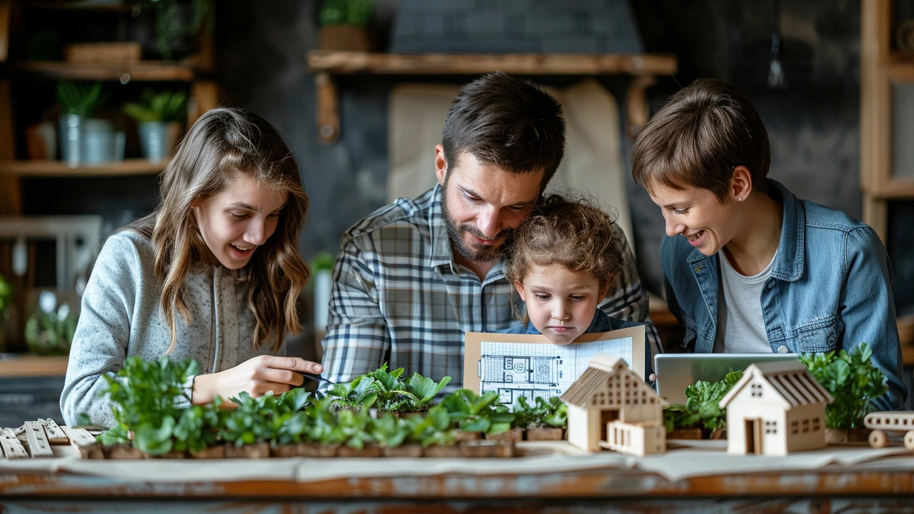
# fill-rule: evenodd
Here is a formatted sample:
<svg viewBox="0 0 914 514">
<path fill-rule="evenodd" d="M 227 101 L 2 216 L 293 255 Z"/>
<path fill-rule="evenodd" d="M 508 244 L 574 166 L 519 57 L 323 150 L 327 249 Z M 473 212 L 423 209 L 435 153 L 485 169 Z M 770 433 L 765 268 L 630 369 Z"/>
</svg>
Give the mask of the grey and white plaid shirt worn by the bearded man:
<svg viewBox="0 0 914 514">
<path fill-rule="evenodd" d="M 625 241 L 622 229 L 617 230 Z M 324 377 L 345 382 L 388 362 L 434 380 L 463 381 L 463 333 L 494 332 L 519 322 L 524 304 L 498 262 L 483 281 L 453 262 L 441 187 L 419 198 L 398 198 L 347 230 L 334 268 Z M 634 256 L 624 242 L 622 271 L 600 304 L 607 315 L 650 323 Z"/>
</svg>

